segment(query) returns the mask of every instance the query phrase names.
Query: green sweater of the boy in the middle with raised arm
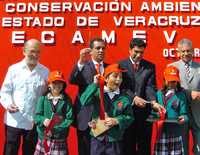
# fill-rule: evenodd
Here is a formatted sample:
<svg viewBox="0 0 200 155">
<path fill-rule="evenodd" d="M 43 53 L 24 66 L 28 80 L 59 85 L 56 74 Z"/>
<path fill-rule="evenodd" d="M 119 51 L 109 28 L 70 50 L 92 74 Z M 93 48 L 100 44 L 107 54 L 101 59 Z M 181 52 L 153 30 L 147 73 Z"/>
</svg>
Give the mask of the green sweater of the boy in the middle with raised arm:
<svg viewBox="0 0 200 155">
<path fill-rule="evenodd" d="M 91 84 L 81 95 L 80 101 L 83 106 L 89 104 L 94 105 L 94 111 L 92 113 L 92 119 L 95 120 L 99 117 L 99 105 L 100 105 L 100 90 L 96 84 Z M 112 108 L 109 108 L 111 104 Z M 110 142 L 122 140 L 124 131 L 133 122 L 133 110 L 130 104 L 128 96 L 120 94 L 114 100 L 110 100 L 107 95 L 104 94 L 104 107 L 105 112 L 109 117 L 116 118 L 119 122 L 118 125 L 113 126 L 106 133 Z M 93 136 L 92 132 L 90 132 Z"/>
</svg>

